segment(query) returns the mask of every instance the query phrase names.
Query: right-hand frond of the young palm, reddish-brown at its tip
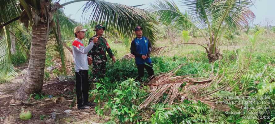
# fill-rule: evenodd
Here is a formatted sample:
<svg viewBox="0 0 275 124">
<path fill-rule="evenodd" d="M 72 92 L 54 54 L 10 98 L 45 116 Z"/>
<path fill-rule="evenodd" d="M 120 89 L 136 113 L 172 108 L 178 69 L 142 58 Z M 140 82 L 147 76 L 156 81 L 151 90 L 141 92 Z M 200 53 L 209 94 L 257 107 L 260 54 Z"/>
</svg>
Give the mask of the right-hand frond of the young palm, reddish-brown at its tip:
<svg viewBox="0 0 275 124">
<path fill-rule="evenodd" d="M 219 32 L 221 25 L 225 24 L 229 30 L 240 29 L 248 25 L 255 15 L 249 10 L 253 5 L 250 0 L 215 0 L 211 6 L 213 13 L 213 30 Z"/>
</svg>

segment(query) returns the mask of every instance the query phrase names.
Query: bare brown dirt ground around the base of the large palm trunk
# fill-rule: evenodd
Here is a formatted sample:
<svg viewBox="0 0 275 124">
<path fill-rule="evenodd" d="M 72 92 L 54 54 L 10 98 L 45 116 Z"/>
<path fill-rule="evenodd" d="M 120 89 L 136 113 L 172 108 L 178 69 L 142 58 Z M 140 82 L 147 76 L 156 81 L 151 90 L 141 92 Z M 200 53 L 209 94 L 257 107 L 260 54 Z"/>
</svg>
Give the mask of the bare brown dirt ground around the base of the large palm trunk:
<svg viewBox="0 0 275 124">
<path fill-rule="evenodd" d="M 24 104 L 13 99 L 13 94 L 23 82 L 23 75 L 14 78 L 11 83 L 0 84 L 0 124 L 97 124 L 108 121 L 108 118 L 98 117 L 94 106 L 90 109 L 77 110 L 75 108 L 75 82 L 73 80 L 51 80 L 43 85 L 43 99 L 31 99 L 29 103 L 39 102 L 35 105 Z M 64 89 L 66 90 L 64 91 Z M 54 98 L 49 98 L 52 95 Z M 65 101 L 55 101 L 55 98 L 64 97 Z M 20 120 L 19 113 L 27 109 L 32 113 L 29 120 Z M 70 109 L 69 113 L 64 111 Z M 56 112 L 52 119 L 51 113 Z"/>
</svg>

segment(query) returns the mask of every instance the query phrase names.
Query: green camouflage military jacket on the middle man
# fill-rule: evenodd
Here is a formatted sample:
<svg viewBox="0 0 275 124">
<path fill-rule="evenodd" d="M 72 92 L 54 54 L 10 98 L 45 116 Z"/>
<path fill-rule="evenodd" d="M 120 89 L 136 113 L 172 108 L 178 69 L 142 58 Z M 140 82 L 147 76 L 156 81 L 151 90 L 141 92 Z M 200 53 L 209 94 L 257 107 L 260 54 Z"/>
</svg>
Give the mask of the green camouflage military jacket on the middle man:
<svg viewBox="0 0 275 124">
<path fill-rule="evenodd" d="M 91 37 L 89 39 L 89 43 L 92 42 L 92 40 L 96 37 L 97 35 Z M 88 56 L 92 57 L 93 62 L 106 62 L 107 57 L 106 57 L 106 51 L 109 54 L 110 58 L 114 56 L 112 53 L 112 50 L 107 43 L 107 40 L 104 37 L 98 37 L 98 42 L 95 43 L 95 45 L 92 47 L 92 50 L 88 52 Z"/>
</svg>

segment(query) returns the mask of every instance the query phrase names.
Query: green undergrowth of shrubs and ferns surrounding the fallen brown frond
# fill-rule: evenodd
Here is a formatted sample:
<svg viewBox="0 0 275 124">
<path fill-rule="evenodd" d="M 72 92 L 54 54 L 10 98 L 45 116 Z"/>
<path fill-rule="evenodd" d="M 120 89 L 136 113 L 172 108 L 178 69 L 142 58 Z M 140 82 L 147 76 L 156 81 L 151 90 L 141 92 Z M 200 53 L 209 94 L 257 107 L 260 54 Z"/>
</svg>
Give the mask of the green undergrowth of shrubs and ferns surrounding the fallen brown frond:
<svg viewBox="0 0 275 124">
<path fill-rule="evenodd" d="M 237 53 L 237 54 L 236 54 Z M 214 96 L 245 96 L 238 100 L 240 106 L 250 106 L 260 109 L 241 109 L 229 104 L 231 111 L 243 114 L 230 114 L 218 109 L 212 109 L 200 100 L 193 101 L 175 99 L 176 104 L 163 104 L 160 99 L 156 105 L 140 109 L 138 106 L 147 98 L 150 88 L 135 80 L 137 69 L 135 61 L 120 60 L 115 63 L 110 60 L 106 64 L 105 78 L 100 79 L 97 89 L 89 92 L 90 97 L 97 103 L 95 108 L 98 116 L 109 116 L 106 122 L 135 123 L 135 124 L 265 124 L 275 117 L 275 67 L 274 58 L 266 53 L 255 52 L 251 55 L 249 50 L 223 51 L 223 59 L 209 64 L 206 54 L 194 52 L 192 56 L 153 57 L 155 74 L 170 71 L 183 65 L 175 75 L 190 75 L 207 79 L 211 73 L 223 78 L 221 83 L 214 83 L 205 90 L 216 90 L 222 84 L 228 83 L 233 89 L 219 91 Z M 250 60 L 250 61 L 249 61 Z M 248 66 L 249 65 L 249 66 Z M 246 68 L 246 69 L 245 69 Z M 91 72 L 89 72 L 91 76 Z M 237 75 L 237 76 L 236 76 Z M 144 80 L 148 74 L 145 71 Z M 237 78 L 236 78 L 237 77 Z M 238 85 L 236 85 L 238 84 Z M 165 98 L 164 94 L 164 98 Z M 268 99 L 260 99 L 269 96 Z M 255 103 L 249 103 L 251 99 Z M 164 99 L 163 98 L 163 99 Z M 224 99 L 218 99 L 222 101 Z M 269 109 L 264 109 L 269 107 Z M 258 112 L 250 114 L 250 112 Z M 262 113 L 260 113 L 262 112 Z M 267 112 L 268 114 L 263 114 Z M 255 117 L 255 119 L 247 119 Z M 264 118 L 263 118 L 264 117 Z M 275 119 L 273 119 L 275 120 Z"/>
</svg>

